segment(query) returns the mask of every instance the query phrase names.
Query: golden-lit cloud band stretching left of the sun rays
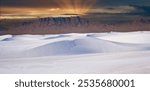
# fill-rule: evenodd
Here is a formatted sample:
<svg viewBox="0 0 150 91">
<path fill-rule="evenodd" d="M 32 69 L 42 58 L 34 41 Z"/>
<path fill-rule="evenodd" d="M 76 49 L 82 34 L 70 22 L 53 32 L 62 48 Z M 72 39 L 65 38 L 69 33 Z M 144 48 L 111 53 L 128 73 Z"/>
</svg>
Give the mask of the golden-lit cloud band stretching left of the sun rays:
<svg viewBox="0 0 150 91">
<path fill-rule="evenodd" d="M 2 7 L 0 9 L 0 19 L 21 19 L 21 18 L 37 18 L 48 17 L 61 14 L 59 8 L 15 8 Z"/>
</svg>

